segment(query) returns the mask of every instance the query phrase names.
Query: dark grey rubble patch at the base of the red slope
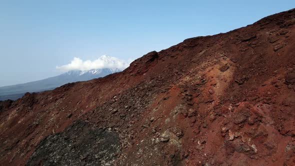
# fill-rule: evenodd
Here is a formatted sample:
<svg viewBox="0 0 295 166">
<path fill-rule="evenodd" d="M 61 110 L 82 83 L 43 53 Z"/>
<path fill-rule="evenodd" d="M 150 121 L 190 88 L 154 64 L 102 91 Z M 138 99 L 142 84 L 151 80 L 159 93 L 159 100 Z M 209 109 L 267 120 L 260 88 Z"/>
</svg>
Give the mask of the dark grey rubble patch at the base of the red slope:
<svg viewBox="0 0 295 166">
<path fill-rule="evenodd" d="M 111 165 L 119 152 L 116 133 L 78 120 L 42 139 L 26 165 Z"/>
</svg>

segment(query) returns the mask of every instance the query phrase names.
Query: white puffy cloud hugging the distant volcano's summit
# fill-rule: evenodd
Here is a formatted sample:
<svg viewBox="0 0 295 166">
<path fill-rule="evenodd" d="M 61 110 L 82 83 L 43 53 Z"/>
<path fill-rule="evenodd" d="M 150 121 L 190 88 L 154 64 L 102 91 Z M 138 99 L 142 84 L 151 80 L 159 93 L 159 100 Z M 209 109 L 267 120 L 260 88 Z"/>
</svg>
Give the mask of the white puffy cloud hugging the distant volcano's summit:
<svg viewBox="0 0 295 166">
<path fill-rule="evenodd" d="M 98 68 L 118 68 L 125 69 L 129 66 L 131 60 L 128 62 L 126 60 L 121 60 L 116 57 L 102 55 L 98 59 L 93 61 L 91 60 L 82 60 L 78 57 L 74 57 L 69 64 L 56 66 L 56 69 L 60 71 L 69 71 L 69 70 L 90 70 Z"/>
</svg>

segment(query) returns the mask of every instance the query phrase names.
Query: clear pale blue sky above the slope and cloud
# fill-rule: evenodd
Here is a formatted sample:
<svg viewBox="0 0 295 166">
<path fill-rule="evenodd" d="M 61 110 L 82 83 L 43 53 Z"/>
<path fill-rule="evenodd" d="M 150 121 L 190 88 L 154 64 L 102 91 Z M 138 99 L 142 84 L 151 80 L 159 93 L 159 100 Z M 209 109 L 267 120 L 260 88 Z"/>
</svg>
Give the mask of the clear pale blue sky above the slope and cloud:
<svg viewBox="0 0 295 166">
<path fill-rule="evenodd" d="M 295 0 L 0 0 L 0 86 L 57 75 L 74 57 L 138 58 L 293 7 Z"/>
</svg>

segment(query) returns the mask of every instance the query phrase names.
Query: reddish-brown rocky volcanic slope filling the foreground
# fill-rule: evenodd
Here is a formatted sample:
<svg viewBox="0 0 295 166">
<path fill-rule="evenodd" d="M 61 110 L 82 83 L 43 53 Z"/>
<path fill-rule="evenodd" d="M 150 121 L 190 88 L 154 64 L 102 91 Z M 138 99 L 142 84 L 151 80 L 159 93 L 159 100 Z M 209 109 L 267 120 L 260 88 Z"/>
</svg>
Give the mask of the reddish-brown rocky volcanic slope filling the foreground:
<svg viewBox="0 0 295 166">
<path fill-rule="evenodd" d="M 294 56 L 291 9 L 0 101 L 0 165 L 295 165 Z"/>
</svg>

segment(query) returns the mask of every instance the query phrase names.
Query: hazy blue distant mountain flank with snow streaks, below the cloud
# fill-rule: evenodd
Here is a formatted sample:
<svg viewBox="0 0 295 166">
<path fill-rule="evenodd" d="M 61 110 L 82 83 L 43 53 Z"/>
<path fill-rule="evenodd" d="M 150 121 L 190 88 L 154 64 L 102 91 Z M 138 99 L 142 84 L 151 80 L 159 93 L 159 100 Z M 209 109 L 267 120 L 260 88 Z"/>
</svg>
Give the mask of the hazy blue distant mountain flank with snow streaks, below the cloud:
<svg viewBox="0 0 295 166">
<path fill-rule="evenodd" d="M 121 71 L 118 68 L 102 68 L 91 70 L 71 70 L 63 74 L 45 78 L 42 80 L 2 86 L 0 87 L 0 100 L 20 98 L 26 92 L 39 92 L 44 90 L 51 90 L 59 87 L 65 83 L 90 80 L 98 77 Z"/>
</svg>

